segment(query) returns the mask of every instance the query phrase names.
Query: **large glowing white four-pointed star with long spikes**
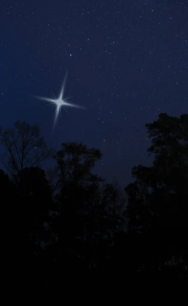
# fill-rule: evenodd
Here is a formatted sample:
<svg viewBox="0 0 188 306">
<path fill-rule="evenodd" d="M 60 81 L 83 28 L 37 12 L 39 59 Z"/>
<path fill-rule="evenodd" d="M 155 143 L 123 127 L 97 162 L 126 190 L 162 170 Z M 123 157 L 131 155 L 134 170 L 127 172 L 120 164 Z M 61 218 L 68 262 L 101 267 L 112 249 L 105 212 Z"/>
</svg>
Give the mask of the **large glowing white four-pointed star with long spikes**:
<svg viewBox="0 0 188 306">
<path fill-rule="evenodd" d="M 56 108 L 56 113 L 55 113 L 55 119 L 54 119 L 54 126 L 56 125 L 58 116 L 61 115 L 61 109 L 64 108 L 64 110 L 67 112 L 67 107 L 74 107 L 74 108 L 82 108 L 83 107 L 79 106 L 79 105 L 75 105 L 75 104 L 71 104 L 68 103 L 70 96 L 64 97 L 64 92 L 65 92 L 65 83 L 66 83 L 66 79 L 67 79 L 67 72 L 65 75 L 65 79 L 63 81 L 62 84 L 62 88 L 60 90 L 59 96 L 56 97 L 53 93 L 53 99 L 52 98 L 47 98 L 47 97 L 39 97 L 36 96 L 36 98 L 40 99 L 40 100 L 46 100 L 48 101 L 53 107 Z"/>
</svg>

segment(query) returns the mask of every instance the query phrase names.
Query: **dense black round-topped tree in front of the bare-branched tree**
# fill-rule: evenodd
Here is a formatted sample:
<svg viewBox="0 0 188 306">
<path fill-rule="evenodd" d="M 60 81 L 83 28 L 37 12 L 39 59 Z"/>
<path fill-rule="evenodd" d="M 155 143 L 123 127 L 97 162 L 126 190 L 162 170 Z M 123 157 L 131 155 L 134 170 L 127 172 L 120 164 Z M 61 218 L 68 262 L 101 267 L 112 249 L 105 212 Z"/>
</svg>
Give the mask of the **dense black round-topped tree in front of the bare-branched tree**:
<svg viewBox="0 0 188 306">
<path fill-rule="evenodd" d="M 46 270 L 45 246 L 52 243 L 51 188 L 44 170 L 39 167 L 26 167 L 17 176 L 17 200 L 14 202 L 16 209 L 13 216 L 15 245 L 12 252 L 19 273 L 24 277 L 37 273 L 37 278 L 41 279 Z"/>
</svg>

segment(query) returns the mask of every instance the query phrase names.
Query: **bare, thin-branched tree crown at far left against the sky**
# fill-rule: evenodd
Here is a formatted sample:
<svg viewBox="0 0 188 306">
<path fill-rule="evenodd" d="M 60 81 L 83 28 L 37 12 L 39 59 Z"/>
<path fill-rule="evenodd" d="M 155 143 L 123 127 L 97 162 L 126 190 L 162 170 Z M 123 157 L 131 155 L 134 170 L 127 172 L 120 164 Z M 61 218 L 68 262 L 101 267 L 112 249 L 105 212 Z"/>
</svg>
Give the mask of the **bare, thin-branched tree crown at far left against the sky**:
<svg viewBox="0 0 188 306">
<path fill-rule="evenodd" d="M 5 148 L 1 162 L 12 177 L 26 166 L 40 166 L 42 161 L 54 155 L 53 150 L 47 148 L 37 124 L 17 120 L 14 129 L 1 127 L 0 136 L 0 145 Z"/>
</svg>

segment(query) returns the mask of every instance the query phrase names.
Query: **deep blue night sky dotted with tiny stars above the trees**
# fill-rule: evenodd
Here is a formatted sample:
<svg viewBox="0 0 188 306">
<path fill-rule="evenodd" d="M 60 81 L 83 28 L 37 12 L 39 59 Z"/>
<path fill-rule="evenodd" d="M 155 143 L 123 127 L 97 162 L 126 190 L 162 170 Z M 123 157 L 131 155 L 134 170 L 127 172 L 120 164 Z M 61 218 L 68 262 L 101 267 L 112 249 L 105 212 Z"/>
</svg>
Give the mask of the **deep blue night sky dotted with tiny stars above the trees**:
<svg viewBox="0 0 188 306">
<path fill-rule="evenodd" d="M 38 123 L 49 146 L 99 148 L 95 171 L 125 186 L 151 164 L 145 123 L 188 113 L 188 1 L 0 1 L 0 125 Z M 33 97 L 65 95 L 85 109 Z"/>
</svg>

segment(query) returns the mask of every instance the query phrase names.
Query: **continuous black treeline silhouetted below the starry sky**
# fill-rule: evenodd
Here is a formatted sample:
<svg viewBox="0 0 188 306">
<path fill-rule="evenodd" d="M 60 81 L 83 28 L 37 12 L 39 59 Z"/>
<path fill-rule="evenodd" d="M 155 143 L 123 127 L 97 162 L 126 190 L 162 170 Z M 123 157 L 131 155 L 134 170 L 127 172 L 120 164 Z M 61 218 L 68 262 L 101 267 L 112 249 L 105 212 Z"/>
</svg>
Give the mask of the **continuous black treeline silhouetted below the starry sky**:
<svg viewBox="0 0 188 306">
<path fill-rule="evenodd" d="M 25 121 L 1 128 L 9 279 L 50 287 L 68 275 L 187 277 L 188 115 L 162 113 L 146 127 L 153 164 L 134 167 L 125 192 L 93 174 L 100 150 L 62 143 L 56 152 Z M 48 158 L 55 166 L 44 171 Z"/>
</svg>

